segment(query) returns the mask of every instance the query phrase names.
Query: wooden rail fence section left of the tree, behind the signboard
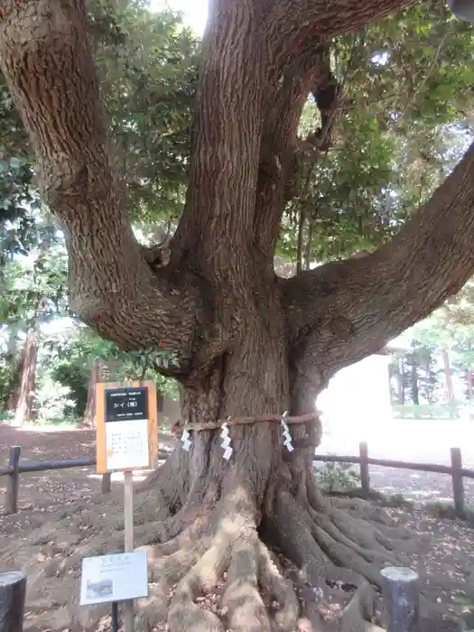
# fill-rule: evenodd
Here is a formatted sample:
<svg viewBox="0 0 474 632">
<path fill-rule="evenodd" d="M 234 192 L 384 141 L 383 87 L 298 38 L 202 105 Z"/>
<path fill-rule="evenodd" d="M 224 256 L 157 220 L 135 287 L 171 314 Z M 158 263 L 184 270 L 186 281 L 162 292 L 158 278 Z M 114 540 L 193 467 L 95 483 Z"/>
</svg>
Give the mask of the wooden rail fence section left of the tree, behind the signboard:
<svg viewBox="0 0 474 632">
<path fill-rule="evenodd" d="M 44 472 L 51 469 L 69 469 L 69 468 L 88 468 L 96 465 L 96 457 L 86 457 L 85 459 L 70 460 L 43 460 L 39 463 L 20 463 L 21 447 L 13 445 L 10 448 L 8 465 L 0 467 L 0 477 L 7 476 L 6 493 L 5 493 L 5 514 L 18 513 L 18 491 L 20 487 L 20 474 L 26 472 Z M 158 451 L 160 460 L 166 459 L 170 455 L 170 451 Z M 102 475 L 101 492 L 107 494 L 111 489 L 110 472 Z"/>
</svg>

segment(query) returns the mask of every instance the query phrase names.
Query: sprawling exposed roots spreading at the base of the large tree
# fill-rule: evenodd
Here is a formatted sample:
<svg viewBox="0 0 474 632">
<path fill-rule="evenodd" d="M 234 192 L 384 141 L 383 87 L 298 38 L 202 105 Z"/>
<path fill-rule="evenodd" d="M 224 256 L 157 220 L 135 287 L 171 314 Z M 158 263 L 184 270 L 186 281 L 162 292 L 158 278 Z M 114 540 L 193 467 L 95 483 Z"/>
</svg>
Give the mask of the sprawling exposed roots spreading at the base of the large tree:
<svg viewBox="0 0 474 632">
<path fill-rule="evenodd" d="M 409 563 L 406 554 L 420 549 L 420 539 L 358 498 L 295 497 L 282 482 L 265 498 L 262 517 L 251 498 L 244 484 L 220 498 L 214 489 L 199 503 L 183 504 L 155 477 L 141 487 L 135 542 L 148 552 L 150 592 L 136 604 L 136 629 L 380 629 L 371 621 L 379 571 Z M 107 612 L 79 608 L 80 561 L 121 550 L 121 502 L 111 495 L 107 504 L 76 508 L 2 552 L 2 569 L 28 574 L 28 609 L 39 613 L 37 625 L 43 612 L 51 630 L 90 629 Z"/>
</svg>

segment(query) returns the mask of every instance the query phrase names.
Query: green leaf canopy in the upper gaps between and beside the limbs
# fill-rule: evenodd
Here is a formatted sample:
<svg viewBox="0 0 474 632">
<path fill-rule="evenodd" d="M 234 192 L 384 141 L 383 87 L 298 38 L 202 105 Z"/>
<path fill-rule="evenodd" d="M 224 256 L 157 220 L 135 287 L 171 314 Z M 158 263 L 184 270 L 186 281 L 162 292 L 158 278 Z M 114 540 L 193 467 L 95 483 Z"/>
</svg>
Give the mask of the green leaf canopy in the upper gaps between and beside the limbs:
<svg viewBox="0 0 474 632">
<path fill-rule="evenodd" d="M 145 241 L 160 241 L 156 222 L 172 231 L 184 203 L 199 42 L 175 15 L 140 3 L 89 9 L 128 212 Z M 279 254 L 296 261 L 301 214 L 306 259 L 323 263 L 379 246 L 430 196 L 469 142 L 471 37 L 440 3 L 334 39 L 330 64 L 346 94 L 337 135 L 327 153 L 303 144 L 321 125 L 310 97 L 299 126 L 298 194 L 285 209 Z M 2 85 L 2 218 L 4 225 L 22 218 L 15 228 L 24 229 L 39 200 L 28 141 Z M 14 233 L 6 232 L 11 249 Z"/>
</svg>

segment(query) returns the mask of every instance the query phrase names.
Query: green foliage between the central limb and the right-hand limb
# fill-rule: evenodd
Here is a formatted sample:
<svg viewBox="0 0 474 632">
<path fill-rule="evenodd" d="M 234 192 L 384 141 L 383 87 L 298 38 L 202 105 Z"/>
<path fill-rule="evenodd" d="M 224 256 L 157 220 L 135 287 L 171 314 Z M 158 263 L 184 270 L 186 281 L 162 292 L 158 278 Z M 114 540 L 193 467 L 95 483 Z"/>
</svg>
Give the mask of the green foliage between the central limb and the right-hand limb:
<svg viewBox="0 0 474 632">
<path fill-rule="evenodd" d="M 302 214 L 309 264 L 379 246 L 431 195 L 469 143 L 472 45 L 471 26 L 441 3 L 334 42 L 346 93 L 337 141 L 305 165 L 285 225 L 287 255 L 296 256 Z M 315 110 L 308 105 L 302 135 Z"/>
</svg>

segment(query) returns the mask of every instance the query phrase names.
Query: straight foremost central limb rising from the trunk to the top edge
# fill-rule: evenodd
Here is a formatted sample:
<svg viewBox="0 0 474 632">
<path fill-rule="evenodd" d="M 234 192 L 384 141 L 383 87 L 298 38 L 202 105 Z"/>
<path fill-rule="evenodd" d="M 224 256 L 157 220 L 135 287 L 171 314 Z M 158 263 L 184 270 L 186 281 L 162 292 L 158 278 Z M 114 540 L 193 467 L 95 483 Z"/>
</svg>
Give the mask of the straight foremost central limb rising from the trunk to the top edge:
<svg viewBox="0 0 474 632">
<path fill-rule="evenodd" d="M 209 9 L 194 115 L 190 184 L 174 243 L 211 283 L 228 283 L 228 248 L 244 256 L 255 211 L 267 51 L 255 0 Z"/>
</svg>

